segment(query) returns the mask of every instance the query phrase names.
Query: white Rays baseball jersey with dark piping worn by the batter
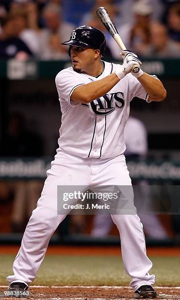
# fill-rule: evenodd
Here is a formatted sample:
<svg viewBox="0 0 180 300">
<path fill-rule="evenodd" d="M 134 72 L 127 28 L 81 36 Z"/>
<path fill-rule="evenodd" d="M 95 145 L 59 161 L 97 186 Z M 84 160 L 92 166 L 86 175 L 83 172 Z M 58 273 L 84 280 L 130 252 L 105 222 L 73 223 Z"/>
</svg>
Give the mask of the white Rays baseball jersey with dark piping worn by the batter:
<svg viewBox="0 0 180 300">
<path fill-rule="evenodd" d="M 83 158 L 109 158 L 124 153 L 123 133 L 129 117 L 130 101 L 135 96 L 148 99 L 139 81 L 128 74 L 108 94 L 89 104 L 70 100 L 78 86 L 100 80 L 120 66 L 108 62 L 104 64 L 104 72 L 97 78 L 77 73 L 69 67 L 59 72 L 55 79 L 62 111 L 59 149 Z"/>
</svg>

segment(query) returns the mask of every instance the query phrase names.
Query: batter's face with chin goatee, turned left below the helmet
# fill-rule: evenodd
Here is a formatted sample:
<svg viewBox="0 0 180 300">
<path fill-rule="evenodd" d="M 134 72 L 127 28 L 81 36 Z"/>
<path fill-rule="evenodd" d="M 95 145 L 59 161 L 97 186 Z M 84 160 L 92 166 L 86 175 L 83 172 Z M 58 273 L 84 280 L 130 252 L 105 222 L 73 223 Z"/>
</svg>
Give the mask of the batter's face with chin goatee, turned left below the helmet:
<svg viewBox="0 0 180 300">
<path fill-rule="evenodd" d="M 71 47 L 70 57 L 72 61 L 73 70 L 81 73 L 87 73 L 90 68 L 93 67 L 93 62 L 95 59 L 95 51 L 94 49 L 86 48 L 86 47 Z"/>
</svg>

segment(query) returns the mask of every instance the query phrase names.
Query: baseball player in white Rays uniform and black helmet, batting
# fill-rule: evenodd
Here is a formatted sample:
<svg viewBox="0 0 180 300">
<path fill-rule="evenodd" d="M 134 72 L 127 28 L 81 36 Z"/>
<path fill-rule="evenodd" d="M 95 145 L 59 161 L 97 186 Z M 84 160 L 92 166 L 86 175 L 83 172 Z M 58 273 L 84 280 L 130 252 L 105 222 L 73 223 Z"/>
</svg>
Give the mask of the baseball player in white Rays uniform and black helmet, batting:
<svg viewBox="0 0 180 300">
<path fill-rule="evenodd" d="M 59 148 L 25 229 L 14 274 L 7 277 L 10 291 L 24 291 L 34 280 L 51 235 L 68 213 L 57 214 L 57 186 L 131 186 L 123 155 L 130 101 L 135 96 L 148 102 L 166 97 L 157 77 L 141 69 L 131 73 L 134 64 L 141 64 L 134 53 L 123 51 L 123 65 L 103 61 L 106 39 L 97 28 L 77 27 L 62 44 L 69 45 L 72 67 L 55 79 L 62 111 Z M 121 235 L 122 259 L 135 298 L 156 298 L 138 216 L 112 214 L 112 220 Z"/>
</svg>

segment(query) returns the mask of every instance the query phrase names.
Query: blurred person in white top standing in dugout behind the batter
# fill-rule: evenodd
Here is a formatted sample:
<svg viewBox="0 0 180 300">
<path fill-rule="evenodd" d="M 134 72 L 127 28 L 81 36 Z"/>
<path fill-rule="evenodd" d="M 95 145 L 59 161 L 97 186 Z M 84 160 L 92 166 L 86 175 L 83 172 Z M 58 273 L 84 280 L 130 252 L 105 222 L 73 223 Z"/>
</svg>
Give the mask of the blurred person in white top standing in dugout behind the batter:
<svg viewBox="0 0 180 300">
<path fill-rule="evenodd" d="M 145 125 L 138 119 L 130 116 L 124 128 L 124 139 L 126 143 L 125 156 L 126 160 L 132 158 L 145 158 L 148 151 L 147 130 Z M 148 237 L 154 239 L 165 239 L 168 237 L 163 225 L 161 225 L 158 216 L 152 214 L 152 203 L 150 196 L 150 188 L 148 181 L 140 180 L 133 181 L 137 185 L 139 192 L 139 207 L 138 215 L 144 226 L 145 233 Z M 138 203 L 138 199 L 137 199 Z"/>
</svg>

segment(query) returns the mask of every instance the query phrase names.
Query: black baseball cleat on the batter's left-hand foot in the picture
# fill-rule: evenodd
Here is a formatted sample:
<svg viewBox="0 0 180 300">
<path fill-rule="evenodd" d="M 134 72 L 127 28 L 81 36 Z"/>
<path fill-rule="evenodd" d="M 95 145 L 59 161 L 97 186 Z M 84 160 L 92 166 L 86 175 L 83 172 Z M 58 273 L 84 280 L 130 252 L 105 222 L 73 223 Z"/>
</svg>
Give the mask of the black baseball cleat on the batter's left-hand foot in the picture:
<svg viewBox="0 0 180 300">
<path fill-rule="evenodd" d="M 28 285 L 23 282 L 12 282 L 7 289 L 7 295 L 10 297 L 23 298 L 29 293 L 27 289 Z"/>
</svg>

